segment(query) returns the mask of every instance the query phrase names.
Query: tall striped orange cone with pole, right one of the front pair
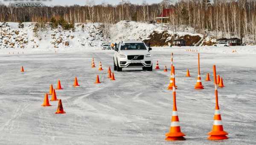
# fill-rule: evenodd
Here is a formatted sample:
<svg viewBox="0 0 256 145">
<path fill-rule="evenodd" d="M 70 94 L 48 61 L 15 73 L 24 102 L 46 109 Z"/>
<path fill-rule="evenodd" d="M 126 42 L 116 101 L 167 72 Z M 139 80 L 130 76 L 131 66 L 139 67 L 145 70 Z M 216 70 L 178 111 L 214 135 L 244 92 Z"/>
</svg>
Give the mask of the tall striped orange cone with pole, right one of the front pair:
<svg viewBox="0 0 256 145">
<path fill-rule="evenodd" d="M 218 84 L 216 80 L 216 67 L 213 65 L 213 77 L 214 77 L 214 83 L 215 83 L 215 113 L 214 113 L 214 122 L 212 131 L 210 131 L 208 134 L 210 135 L 208 139 L 210 140 L 220 140 L 220 139 L 227 139 L 228 133 L 224 131 L 222 122 L 221 122 L 221 112 L 220 108 L 218 106 Z"/>
</svg>

